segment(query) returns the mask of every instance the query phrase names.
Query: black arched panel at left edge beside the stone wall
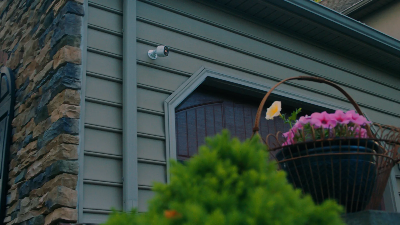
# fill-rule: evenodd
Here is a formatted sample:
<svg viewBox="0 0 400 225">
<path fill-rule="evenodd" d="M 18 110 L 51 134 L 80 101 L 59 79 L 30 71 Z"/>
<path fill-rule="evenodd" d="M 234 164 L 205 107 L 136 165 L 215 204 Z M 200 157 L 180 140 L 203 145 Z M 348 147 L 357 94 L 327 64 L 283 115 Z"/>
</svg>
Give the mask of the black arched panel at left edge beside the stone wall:
<svg viewBox="0 0 400 225">
<path fill-rule="evenodd" d="M 8 182 L 8 161 L 11 137 L 11 122 L 14 117 L 15 83 L 12 71 L 3 66 L 0 69 L 0 221 L 6 213 Z"/>
</svg>

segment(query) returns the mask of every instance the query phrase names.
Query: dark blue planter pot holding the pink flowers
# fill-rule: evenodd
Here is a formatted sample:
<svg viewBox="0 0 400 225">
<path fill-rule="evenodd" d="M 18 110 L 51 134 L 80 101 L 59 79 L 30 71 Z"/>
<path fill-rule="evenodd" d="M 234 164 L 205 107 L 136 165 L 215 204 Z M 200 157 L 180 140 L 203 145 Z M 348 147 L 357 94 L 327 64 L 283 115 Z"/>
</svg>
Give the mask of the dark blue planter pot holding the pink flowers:
<svg viewBox="0 0 400 225">
<path fill-rule="evenodd" d="M 358 142 L 359 141 L 359 142 Z M 316 203 L 336 199 L 346 211 L 362 211 L 374 189 L 378 143 L 347 139 L 296 144 L 276 154 L 288 181 L 311 195 Z"/>
</svg>

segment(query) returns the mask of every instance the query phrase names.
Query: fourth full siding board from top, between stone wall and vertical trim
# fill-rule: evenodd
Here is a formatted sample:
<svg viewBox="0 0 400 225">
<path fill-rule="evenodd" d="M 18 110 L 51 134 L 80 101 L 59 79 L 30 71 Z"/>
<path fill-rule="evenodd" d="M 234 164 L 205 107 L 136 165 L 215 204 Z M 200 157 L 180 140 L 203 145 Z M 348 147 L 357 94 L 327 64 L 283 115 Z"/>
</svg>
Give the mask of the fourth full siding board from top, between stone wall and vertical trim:
<svg viewBox="0 0 400 225">
<path fill-rule="evenodd" d="M 86 76 L 86 97 L 122 104 L 122 84 Z"/>
</svg>

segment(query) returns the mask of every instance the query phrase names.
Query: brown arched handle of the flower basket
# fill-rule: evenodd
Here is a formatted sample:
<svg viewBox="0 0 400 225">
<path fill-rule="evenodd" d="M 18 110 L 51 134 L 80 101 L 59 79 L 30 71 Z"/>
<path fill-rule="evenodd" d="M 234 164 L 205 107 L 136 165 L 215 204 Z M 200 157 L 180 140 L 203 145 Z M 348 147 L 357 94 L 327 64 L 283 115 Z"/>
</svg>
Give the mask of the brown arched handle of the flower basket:
<svg viewBox="0 0 400 225">
<path fill-rule="evenodd" d="M 275 86 L 273 86 L 264 96 L 264 98 L 262 99 L 260 106 L 258 106 L 258 110 L 257 110 L 257 114 L 256 114 L 256 121 L 254 123 L 254 128 L 253 128 L 253 135 L 254 136 L 256 133 L 258 133 L 259 131 L 259 125 L 260 125 L 260 117 L 261 117 L 261 112 L 262 109 L 264 108 L 264 104 L 267 100 L 267 98 L 270 96 L 271 92 L 280 84 L 288 81 L 288 80 L 308 80 L 308 81 L 314 81 L 314 82 L 318 82 L 318 83 L 325 83 L 328 84 L 336 89 L 338 89 L 340 92 L 342 92 L 342 94 L 344 94 L 344 96 L 346 96 L 346 98 L 350 101 L 350 103 L 354 106 L 354 108 L 356 108 L 357 112 L 359 115 L 364 116 L 364 114 L 362 113 L 360 106 L 358 106 L 358 104 L 356 103 L 356 101 L 354 101 L 354 99 L 345 91 L 343 90 L 343 88 L 341 88 L 339 85 L 335 84 L 334 82 L 331 82 L 329 80 L 325 80 L 324 78 L 319 78 L 319 77 L 314 77 L 314 76 L 294 76 L 294 77 L 290 77 L 290 78 L 286 78 L 284 80 L 282 80 L 281 82 L 279 82 L 278 84 L 276 84 Z M 373 137 L 370 127 L 367 124 L 367 134 L 369 137 Z"/>
</svg>

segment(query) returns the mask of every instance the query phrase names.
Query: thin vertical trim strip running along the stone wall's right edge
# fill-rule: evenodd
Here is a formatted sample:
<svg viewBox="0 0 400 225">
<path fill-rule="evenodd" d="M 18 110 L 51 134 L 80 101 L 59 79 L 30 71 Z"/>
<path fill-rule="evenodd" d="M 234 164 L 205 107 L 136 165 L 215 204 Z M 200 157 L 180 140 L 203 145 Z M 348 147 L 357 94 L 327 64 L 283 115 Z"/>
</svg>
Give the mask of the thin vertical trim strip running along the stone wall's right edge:
<svg viewBox="0 0 400 225">
<path fill-rule="evenodd" d="M 86 96 L 86 64 L 87 64 L 87 46 L 88 46 L 88 9 L 89 1 L 84 0 L 83 7 L 85 15 L 83 16 L 83 24 L 81 28 L 81 50 L 82 50 L 82 66 L 81 71 L 81 90 L 80 90 L 80 122 L 79 122 L 79 146 L 78 146 L 78 184 L 76 190 L 78 191 L 78 222 L 83 221 L 83 168 L 84 168 L 84 150 L 85 150 L 85 96 Z"/>
</svg>

